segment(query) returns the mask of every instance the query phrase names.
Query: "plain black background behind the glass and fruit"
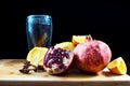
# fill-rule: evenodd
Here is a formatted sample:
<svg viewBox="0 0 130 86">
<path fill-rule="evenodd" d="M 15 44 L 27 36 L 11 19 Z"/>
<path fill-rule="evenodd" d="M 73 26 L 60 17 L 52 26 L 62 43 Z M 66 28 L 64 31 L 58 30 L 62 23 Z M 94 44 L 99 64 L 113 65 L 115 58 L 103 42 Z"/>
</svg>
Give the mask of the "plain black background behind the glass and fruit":
<svg viewBox="0 0 130 86">
<path fill-rule="evenodd" d="M 52 45 L 73 34 L 91 34 L 106 42 L 113 59 L 130 61 L 130 5 L 121 1 L 4 0 L 1 6 L 0 58 L 26 58 L 26 17 L 49 14 L 53 19 Z"/>
</svg>

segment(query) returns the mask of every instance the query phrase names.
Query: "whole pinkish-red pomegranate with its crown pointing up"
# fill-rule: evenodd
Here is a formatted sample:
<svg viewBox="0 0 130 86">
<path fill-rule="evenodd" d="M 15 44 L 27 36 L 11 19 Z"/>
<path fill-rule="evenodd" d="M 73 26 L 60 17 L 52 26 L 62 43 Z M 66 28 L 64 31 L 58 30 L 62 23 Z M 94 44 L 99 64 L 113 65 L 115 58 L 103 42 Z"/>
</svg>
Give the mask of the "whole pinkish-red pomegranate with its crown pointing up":
<svg viewBox="0 0 130 86">
<path fill-rule="evenodd" d="M 112 58 L 109 46 L 100 40 L 92 40 L 88 35 L 84 43 L 74 49 L 77 67 L 83 72 L 98 73 L 103 70 Z"/>
</svg>

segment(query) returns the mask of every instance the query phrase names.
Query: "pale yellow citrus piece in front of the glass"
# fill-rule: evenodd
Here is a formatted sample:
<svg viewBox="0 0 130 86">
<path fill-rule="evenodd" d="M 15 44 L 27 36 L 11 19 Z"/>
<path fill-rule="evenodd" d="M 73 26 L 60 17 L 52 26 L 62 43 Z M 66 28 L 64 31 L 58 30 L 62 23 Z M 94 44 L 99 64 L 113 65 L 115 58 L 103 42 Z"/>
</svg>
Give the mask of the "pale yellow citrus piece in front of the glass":
<svg viewBox="0 0 130 86">
<path fill-rule="evenodd" d="M 27 61 L 30 61 L 30 64 L 34 66 L 43 66 L 43 57 L 47 53 L 47 47 L 34 47 L 27 54 Z"/>
</svg>

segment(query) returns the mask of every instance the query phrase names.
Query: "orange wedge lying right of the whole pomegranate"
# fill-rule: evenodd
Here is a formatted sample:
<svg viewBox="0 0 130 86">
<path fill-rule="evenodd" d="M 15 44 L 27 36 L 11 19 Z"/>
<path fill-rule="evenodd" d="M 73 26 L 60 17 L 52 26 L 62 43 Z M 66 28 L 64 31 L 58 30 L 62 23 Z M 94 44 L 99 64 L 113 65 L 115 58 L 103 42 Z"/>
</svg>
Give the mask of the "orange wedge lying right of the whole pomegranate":
<svg viewBox="0 0 130 86">
<path fill-rule="evenodd" d="M 127 66 L 121 57 L 116 58 L 107 64 L 108 70 L 115 74 L 126 74 Z"/>
</svg>

